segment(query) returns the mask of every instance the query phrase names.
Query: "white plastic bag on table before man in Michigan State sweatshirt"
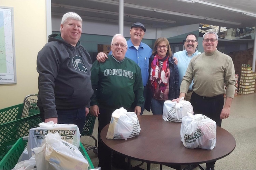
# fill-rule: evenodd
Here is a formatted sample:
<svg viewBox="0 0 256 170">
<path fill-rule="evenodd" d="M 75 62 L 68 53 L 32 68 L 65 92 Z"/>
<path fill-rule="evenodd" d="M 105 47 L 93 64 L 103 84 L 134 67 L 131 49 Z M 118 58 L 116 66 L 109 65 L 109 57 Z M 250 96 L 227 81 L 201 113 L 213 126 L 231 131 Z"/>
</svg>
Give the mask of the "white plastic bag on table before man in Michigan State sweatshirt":
<svg viewBox="0 0 256 170">
<path fill-rule="evenodd" d="M 121 107 L 112 113 L 106 138 L 126 140 L 138 136 L 140 130 L 140 123 L 136 113 L 127 112 L 124 107 Z"/>
</svg>

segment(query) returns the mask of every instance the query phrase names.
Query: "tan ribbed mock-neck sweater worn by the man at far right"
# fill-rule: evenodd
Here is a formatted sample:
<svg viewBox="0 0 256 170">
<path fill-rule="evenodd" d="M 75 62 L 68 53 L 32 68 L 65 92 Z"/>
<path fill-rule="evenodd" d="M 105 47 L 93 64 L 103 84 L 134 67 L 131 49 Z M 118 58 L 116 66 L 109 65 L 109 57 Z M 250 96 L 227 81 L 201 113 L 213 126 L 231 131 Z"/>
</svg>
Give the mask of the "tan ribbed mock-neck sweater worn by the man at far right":
<svg viewBox="0 0 256 170">
<path fill-rule="evenodd" d="M 182 79 L 180 93 L 187 94 L 193 78 L 193 91 L 200 96 L 213 97 L 224 94 L 226 83 L 227 97 L 234 97 L 236 80 L 233 61 L 218 50 L 212 53 L 203 52 L 191 59 Z"/>
</svg>

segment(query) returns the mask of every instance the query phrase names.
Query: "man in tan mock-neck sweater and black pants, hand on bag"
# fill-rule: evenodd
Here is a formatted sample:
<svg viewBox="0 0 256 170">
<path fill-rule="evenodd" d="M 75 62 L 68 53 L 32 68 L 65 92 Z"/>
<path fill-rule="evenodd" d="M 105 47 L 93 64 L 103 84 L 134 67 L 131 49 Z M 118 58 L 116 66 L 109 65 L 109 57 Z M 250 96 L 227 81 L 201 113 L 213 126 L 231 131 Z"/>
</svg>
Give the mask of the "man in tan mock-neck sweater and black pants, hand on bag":
<svg viewBox="0 0 256 170">
<path fill-rule="evenodd" d="M 181 97 L 185 97 L 189 85 L 194 79 L 193 94 L 191 95 L 194 114 L 206 115 L 216 121 L 217 126 L 221 126 L 222 119 L 228 118 L 230 114 L 236 80 L 231 57 L 219 52 L 217 45 L 218 35 L 215 32 L 203 35 L 204 52 L 191 59 L 181 82 L 180 97 L 173 101 L 179 102 Z M 225 105 L 224 83 L 227 86 Z M 214 170 L 215 162 L 207 163 L 207 170 Z M 189 165 L 185 169 L 192 170 L 194 167 Z"/>
</svg>

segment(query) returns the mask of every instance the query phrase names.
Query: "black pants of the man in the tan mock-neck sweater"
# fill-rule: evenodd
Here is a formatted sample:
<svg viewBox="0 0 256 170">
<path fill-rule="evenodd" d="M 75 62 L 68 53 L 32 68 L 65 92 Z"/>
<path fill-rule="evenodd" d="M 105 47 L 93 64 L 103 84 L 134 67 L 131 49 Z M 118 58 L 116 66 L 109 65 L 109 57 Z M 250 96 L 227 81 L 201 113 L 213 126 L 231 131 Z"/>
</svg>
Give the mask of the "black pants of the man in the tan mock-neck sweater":
<svg viewBox="0 0 256 170">
<path fill-rule="evenodd" d="M 194 109 L 194 114 L 203 114 L 216 122 L 216 125 L 221 127 L 222 119 L 219 118 L 224 105 L 223 95 L 218 95 L 212 98 L 204 98 L 197 95 L 195 92 L 191 95 L 191 105 Z M 216 161 L 206 163 L 207 167 L 214 167 Z"/>
</svg>

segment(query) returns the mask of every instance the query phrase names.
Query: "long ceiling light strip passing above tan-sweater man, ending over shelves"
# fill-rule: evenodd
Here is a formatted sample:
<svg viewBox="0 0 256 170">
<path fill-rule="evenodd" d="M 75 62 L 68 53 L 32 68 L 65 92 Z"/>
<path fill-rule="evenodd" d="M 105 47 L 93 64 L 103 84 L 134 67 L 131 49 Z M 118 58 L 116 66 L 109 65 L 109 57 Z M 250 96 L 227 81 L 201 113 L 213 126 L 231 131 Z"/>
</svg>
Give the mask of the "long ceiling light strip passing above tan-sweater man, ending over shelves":
<svg viewBox="0 0 256 170">
<path fill-rule="evenodd" d="M 118 5 L 118 3 L 116 1 L 113 1 L 113 0 L 90 0 L 90 1 L 95 1 L 95 2 L 100 1 L 102 3 Z M 179 1 L 189 2 L 190 0 L 179 0 Z M 194 2 L 194 1 L 196 2 L 197 0 L 191 0 L 191 2 Z M 124 3 L 124 6 L 131 7 L 131 8 L 136 8 L 136 9 L 139 9 L 139 10 L 154 11 L 154 12 L 158 12 L 158 13 L 165 13 L 165 14 L 184 16 L 184 17 L 190 17 L 190 18 L 196 18 L 196 19 L 204 19 L 204 20 L 221 22 L 221 23 L 228 23 L 228 24 L 233 24 L 233 25 L 238 25 L 238 26 L 242 25 L 242 23 L 239 23 L 239 22 L 226 21 L 226 20 L 222 20 L 222 19 L 203 17 L 203 16 L 185 14 L 185 13 L 180 13 L 180 12 L 173 12 L 173 11 L 162 10 L 162 9 L 158 9 L 158 8 L 151 8 L 151 7 L 141 6 L 141 5 L 134 5 L 134 4 L 129 4 L 129 3 Z"/>
</svg>

